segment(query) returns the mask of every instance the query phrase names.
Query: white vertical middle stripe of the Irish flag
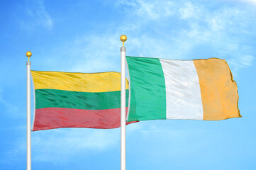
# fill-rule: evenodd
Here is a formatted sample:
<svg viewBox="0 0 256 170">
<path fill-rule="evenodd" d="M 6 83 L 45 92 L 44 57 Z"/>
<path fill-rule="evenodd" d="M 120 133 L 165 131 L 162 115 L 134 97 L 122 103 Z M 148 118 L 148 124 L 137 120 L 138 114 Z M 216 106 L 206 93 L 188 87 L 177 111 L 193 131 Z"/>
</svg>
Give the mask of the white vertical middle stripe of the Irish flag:
<svg viewBox="0 0 256 170">
<path fill-rule="evenodd" d="M 193 61 L 161 60 L 165 76 L 166 118 L 203 120 L 199 78 Z"/>
</svg>

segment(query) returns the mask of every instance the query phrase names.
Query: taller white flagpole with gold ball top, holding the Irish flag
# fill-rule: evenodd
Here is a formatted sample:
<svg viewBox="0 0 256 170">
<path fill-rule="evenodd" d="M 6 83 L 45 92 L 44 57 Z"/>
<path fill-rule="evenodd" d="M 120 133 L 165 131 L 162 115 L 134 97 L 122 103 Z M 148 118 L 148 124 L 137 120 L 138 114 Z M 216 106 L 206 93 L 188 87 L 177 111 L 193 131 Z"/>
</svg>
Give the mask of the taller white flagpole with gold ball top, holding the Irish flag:
<svg viewBox="0 0 256 170">
<path fill-rule="evenodd" d="M 126 170 L 126 35 L 121 35 L 121 170 Z"/>
</svg>

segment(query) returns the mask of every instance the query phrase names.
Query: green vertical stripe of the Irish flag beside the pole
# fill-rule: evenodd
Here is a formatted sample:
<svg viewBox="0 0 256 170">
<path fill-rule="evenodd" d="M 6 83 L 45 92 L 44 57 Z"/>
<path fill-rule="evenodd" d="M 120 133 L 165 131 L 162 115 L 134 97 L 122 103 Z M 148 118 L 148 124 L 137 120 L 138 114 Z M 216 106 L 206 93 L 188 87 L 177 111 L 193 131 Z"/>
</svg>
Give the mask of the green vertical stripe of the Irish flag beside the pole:
<svg viewBox="0 0 256 170">
<path fill-rule="evenodd" d="M 126 56 L 130 75 L 128 121 L 166 119 L 165 77 L 159 59 Z"/>
</svg>

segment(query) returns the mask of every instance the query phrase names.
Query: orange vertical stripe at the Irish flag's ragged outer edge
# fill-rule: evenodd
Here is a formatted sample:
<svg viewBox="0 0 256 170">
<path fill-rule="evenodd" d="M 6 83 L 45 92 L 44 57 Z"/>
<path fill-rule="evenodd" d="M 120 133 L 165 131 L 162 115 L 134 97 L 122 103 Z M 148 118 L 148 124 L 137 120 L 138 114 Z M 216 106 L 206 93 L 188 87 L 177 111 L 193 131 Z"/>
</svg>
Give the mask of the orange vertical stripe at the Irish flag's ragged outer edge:
<svg viewBox="0 0 256 170">
<path fill-rule="evenodd" d="M 241 117 L 238 88 L 225 60 L 194 60 L 199 76 L 204 120 Z"/>
</svg>

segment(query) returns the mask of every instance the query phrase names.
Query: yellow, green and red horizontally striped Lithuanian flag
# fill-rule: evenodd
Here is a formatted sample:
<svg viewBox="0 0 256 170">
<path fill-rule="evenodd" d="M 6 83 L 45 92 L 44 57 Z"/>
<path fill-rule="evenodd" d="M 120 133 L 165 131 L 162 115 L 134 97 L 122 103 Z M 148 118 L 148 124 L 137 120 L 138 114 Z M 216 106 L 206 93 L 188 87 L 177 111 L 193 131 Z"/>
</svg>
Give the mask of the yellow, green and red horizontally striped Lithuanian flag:
<svg viewBox="0 0 256 170">
<path fill-rule="evenodd" d="M 31 71 L 35 89 L 33 131 L 120 127 L 121 74 Z M 126 81 L 128 105 L 128 81 Z"/>
</svg>

